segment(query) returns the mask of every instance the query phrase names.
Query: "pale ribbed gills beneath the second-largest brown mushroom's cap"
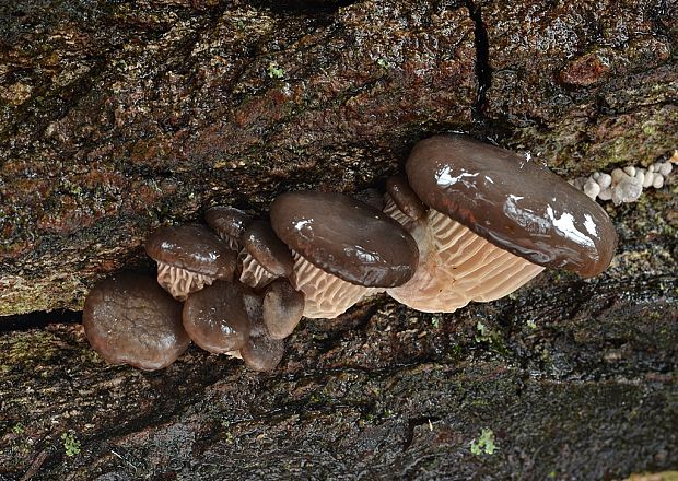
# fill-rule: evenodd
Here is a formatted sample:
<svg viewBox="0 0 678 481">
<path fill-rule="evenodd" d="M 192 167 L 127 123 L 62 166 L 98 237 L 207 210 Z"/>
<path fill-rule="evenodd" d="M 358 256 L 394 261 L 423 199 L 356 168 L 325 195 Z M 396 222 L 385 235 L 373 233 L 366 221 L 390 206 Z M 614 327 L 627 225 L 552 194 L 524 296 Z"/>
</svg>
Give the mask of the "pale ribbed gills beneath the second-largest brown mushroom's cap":
<svg viewBox="0 0 678 481">
<path fill-rule="evenodd" d="M 351 284 L 325 272 L 294 250 L 292 285 L 305 296 L 304 316 L 332 319 L 343 314 L 363 297 L 384 292 L 381 288 Z"/>
</svg>

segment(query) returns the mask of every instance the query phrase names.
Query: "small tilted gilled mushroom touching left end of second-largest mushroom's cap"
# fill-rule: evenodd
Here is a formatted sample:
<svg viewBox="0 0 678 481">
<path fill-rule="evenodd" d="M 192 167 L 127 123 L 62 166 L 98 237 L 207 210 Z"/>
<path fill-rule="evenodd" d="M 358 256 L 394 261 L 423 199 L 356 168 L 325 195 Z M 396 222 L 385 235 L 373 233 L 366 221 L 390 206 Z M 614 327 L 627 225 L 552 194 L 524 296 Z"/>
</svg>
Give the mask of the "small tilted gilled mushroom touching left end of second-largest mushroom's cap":
<svg viewBox="0 0 678 481">
<path fill-rule="evenodd" d="M 289 278 L 292 274 L 292 253 L 278 238 L 268 222 L 253 221 L 243 232 L 241 239 L 242 283 L 260 289 L 276 278 Z"/>
</svg>

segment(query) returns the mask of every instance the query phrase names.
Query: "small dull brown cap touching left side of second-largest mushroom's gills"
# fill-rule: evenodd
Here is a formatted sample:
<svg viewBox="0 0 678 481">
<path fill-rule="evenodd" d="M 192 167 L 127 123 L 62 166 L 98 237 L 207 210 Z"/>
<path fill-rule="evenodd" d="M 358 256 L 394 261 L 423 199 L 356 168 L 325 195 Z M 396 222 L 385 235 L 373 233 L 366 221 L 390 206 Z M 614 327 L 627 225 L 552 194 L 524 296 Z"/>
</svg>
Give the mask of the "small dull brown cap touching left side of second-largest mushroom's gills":
<svg viewBox="0 0 678 481">
<path fill-rule="evenodd" d="M 264 294 L 264 324 L 272 339 L 284 339 L 304 313 L 304 293 L 295 291 L 290 281 L 276 279 L 266 288 Z"/>
</svg>

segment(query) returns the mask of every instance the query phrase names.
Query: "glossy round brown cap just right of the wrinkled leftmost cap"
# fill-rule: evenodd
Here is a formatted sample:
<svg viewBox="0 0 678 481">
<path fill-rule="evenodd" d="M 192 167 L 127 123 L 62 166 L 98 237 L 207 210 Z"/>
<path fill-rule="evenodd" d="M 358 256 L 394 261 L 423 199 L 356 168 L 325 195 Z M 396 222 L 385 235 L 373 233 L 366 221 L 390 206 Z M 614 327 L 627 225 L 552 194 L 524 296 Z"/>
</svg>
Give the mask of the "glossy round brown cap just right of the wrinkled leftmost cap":
<svg viewBox="0 0 678 481">
<path fill-rule="evenodd" d="M 250 324 L 243 298 L 245 289 L 238 282 L 217 281 L 188 297 L 184 328 L 196 344 L 218 354 L 245 344 Z"/>
</svg>

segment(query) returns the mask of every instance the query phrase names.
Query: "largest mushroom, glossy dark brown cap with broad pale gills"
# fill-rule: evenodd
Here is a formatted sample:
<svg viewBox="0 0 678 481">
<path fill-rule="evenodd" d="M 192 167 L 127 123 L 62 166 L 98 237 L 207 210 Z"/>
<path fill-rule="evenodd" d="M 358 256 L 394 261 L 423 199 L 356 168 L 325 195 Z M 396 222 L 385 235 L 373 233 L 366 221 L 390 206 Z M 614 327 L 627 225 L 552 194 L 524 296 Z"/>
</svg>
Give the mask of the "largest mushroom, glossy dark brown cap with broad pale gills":
<svg viewBox="0 0 678 481">
<path fill-rule="evenodd" d="M 465 136 L 436 136 L 414 146 L 406 169 L 431 208 L 418 221 L 394 215 L 421 255 L 412 280 L 388 290 L 410 307 L 453 312 L 506 295 L 545 267 L 591 277 L 611 260 L 617 236 L 603 208 L 516 153 Z M 389 197 L 393 215 L 397 196 Z"/>
</svg>

